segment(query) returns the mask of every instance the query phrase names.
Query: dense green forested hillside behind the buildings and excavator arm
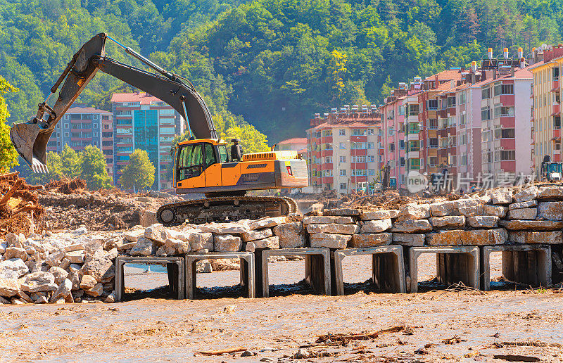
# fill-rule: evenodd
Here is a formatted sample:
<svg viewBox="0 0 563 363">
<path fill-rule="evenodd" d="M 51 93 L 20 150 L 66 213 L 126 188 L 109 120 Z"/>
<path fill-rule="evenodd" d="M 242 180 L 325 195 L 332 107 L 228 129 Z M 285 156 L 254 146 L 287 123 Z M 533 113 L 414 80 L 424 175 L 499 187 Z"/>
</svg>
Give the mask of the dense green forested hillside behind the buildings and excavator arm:
<svg viewBox="0 0 563 363">
<path fill-rule="evenodd" d="M 488 46 L 562 42 L 562 15 L 563 0 L 0 0 L 0 75 L 19 89 L 5 95 L 8 121 L 28 120 L 80 45 L 108 32 L 273 143 L 302 136 L 312 113 L 380 103 L 397 82 Z M 108 108 L 124 89 L 99 75 L 80 101 Z"/>
</svg>

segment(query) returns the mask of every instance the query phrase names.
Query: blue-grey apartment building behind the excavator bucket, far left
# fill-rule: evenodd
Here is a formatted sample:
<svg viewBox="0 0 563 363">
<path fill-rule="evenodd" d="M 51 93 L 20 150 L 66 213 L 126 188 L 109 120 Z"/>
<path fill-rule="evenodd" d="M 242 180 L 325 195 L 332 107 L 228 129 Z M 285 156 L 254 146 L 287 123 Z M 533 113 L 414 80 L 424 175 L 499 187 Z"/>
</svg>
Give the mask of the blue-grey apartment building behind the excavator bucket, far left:
<svg viewBox="0 0 563 363">
<path fill-rule="evenodd" d="M 47 151 L 61 152 L 65 145 L 74 151 L 82 151 L 87 145 L 101 148 L 108 174 L 113 176 L 113 115 L 109 111 L 74 103 L 56 125 Z"/>
</svg>

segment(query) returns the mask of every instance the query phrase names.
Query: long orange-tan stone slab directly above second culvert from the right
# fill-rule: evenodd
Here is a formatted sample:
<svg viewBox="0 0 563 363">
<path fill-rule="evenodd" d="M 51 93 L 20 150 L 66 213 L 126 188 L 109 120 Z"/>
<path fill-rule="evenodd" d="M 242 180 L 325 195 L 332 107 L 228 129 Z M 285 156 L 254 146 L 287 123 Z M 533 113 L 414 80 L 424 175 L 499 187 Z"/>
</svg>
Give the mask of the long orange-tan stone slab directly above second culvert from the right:
<svg viewBox="0 0 563 363">
<path fill-rule="evenodd" d="M 439 231 L 426 234 L 428 246 L 487 246 L 508 241 L 506 229 L 474 229 L 472 231 Z"/>
</svg>

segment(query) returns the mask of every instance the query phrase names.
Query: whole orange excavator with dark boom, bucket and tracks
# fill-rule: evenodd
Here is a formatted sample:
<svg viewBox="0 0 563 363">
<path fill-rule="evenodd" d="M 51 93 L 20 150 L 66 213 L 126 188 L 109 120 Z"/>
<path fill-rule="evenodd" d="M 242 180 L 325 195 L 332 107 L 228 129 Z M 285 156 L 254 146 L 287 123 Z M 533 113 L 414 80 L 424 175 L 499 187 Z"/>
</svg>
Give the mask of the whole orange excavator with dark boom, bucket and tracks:
<svg viewBox="0 0 563 363">
<path fill-rule="evenodd" d="M 154 72 L 109 58 L 105 52 L 106 40 L 115 42 Z M 246 196 L 246 192 L 308 186 L 305 160 L 298 158 L 295 151 L 243 154 L 239 140 L 232 140 L 234 144 L 229 150 L 227 142 L 217 137 L 208 107 L 191 82 L 160 68 L 104 33 L 97 34 L 75 53 L 51 88 L 51 94 L 39 103 L 37 115 L 28 122 L 13 125 L 10 130 L 15 149 L 34 172 L 49 172 L 46 146 L 55 125 L 98 70 L 160 98 L 188 123 L 190 139 L 172 146 L 171 150 L 176 193 L 204 193 L 205 198 L 163 205 L 157 211 L 159 222 L 168 226 L 184 222 L 200 224 L 276 217 L 297 211 L 291 198 Z M 63 81 L 54 106 L 49 106 L 49 98 Z"/>
</svg>

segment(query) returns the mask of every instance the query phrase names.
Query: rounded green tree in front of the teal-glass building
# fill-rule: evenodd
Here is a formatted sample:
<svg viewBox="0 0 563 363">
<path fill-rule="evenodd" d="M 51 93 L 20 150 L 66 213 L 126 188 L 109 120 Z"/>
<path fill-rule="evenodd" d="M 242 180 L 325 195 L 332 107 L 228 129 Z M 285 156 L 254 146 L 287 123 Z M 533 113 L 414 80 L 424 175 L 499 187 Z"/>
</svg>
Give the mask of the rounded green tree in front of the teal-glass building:
<svg viewBox="0 0 563 363">
<path fill-rule="evenodd" d="M 148 158 L 148 153 L 137 148 L 129 155 L 129 164 L 123 168 L 119 178 L 124 189 L 141 191 L 154 184 L 155 167 Z"/>
</svg>

